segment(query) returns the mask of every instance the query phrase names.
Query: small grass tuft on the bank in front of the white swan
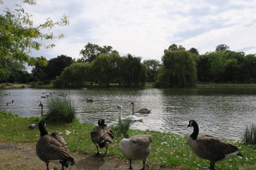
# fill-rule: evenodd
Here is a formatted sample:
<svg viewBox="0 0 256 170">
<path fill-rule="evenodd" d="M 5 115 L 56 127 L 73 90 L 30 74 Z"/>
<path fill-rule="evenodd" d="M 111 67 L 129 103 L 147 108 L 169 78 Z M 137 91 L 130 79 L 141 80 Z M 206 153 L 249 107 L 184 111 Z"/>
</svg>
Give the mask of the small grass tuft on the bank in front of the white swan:
<svg viewBox="0 0 256 170">
<path fill-rule="evenodd" d="M 119 120 L 117 123 L 111 124 L 111 130 L 115 134 L 125 135 L 127 133 L 127 131 L 129 130 L 130 126 L 131 126 L 131 120 L 130 119 Z"/>
</svg>

